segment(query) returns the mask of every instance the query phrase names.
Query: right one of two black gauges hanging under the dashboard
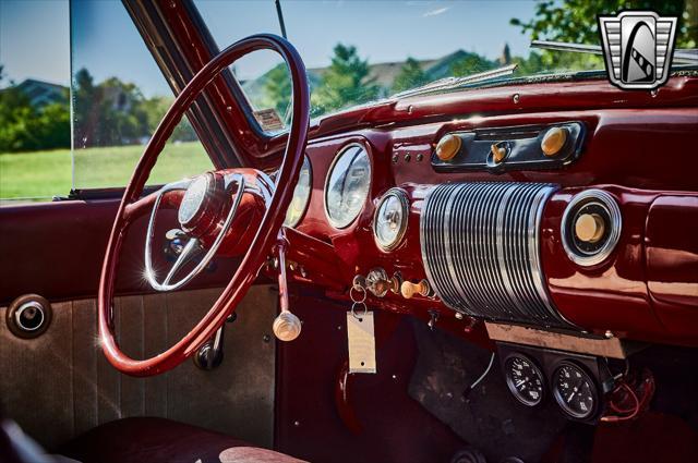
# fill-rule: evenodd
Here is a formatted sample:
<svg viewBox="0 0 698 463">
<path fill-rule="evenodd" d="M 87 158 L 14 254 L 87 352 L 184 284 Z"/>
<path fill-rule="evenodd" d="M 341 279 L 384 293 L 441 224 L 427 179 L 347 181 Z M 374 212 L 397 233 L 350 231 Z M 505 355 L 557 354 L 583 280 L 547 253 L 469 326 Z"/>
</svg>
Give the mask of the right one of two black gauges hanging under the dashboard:
<svg viewBox="0 0 698 463">
<path fill-rule="evenodd" d="M 563 411 L 573 418 L 586 419 L 597 411 L 597 387 L 578 365 L 562 362 L 553 374 L 553 395 Z"/>
</svg>

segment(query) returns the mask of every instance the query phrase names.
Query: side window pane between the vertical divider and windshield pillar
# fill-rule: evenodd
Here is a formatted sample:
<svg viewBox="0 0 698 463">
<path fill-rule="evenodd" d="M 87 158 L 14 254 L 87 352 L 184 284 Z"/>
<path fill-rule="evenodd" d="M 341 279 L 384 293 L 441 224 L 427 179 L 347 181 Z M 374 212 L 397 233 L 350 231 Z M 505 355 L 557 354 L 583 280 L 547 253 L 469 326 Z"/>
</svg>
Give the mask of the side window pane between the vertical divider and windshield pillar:
<svg viewBox="0 0 698 463">
<path fill-rule="evenodd" d="M 123 186 L 172 102 L 172 92 L 121 2 L 73 0 L 71 40 L 73 186 Z M 210 168 L 183 119 L 148 184 Z"/>
</svg>

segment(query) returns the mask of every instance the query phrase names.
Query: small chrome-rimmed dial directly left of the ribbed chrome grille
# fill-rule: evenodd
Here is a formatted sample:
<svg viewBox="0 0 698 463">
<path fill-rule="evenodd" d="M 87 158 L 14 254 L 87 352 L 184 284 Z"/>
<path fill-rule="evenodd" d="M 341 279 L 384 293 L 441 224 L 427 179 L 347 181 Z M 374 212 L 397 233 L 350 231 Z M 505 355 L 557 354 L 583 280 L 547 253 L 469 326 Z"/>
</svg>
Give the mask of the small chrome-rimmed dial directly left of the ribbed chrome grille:
<svg viewBox="0 0 698 463">
<path fill-rule="evenodd" d="M 397 247 L 407 230 L 409 200 L 399 188 L 389 190 L 378 203 L 373 217 L 373 236 L 383 251 Z"/>
</svg>

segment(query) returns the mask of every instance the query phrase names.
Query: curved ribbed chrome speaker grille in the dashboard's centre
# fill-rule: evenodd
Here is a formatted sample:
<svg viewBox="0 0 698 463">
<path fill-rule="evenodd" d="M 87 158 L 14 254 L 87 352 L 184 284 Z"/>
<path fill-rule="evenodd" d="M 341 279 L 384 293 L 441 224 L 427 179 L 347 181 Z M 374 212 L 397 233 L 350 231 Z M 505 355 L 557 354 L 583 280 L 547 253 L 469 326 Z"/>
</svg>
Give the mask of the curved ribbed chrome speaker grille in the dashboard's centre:
<svg viewBox="0 0 698 463">
<path fill-rule="evenodd" d="M 553 307 L 540 263 L 540 222 L 554 185 L 452 183 L 426 196 L 422 260 L 450 308 L 491 320 L 569 327 Z"/>
</svg>

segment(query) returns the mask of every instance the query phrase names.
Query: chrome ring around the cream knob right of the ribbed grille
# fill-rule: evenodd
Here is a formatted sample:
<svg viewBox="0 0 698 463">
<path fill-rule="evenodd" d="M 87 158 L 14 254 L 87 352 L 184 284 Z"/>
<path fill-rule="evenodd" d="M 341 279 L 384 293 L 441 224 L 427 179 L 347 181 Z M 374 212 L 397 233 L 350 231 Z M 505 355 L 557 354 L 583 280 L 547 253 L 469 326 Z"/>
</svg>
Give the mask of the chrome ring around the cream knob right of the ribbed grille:
<svg viewBox="0 0 698 463">
<path fill-rule="evenodd" d="M 569 235 L 567 227 L 569 224 L 568 222 L 576 218 L 580 207 L 583 207 L 587 204 L 595 204 L 603 208 L 611 220 L 611 223 L 609 223 L 611 231 L 606 242 L 593 254 L 583 253 L 573 244 L 573 236 Z M 615 249 L 615 246 L 618 244 L 622 228 L 623 218 L 621 216 L 621 208 L 618 207 L 615 198 L 603 190 L 591 188 L 577 194 L 571 202 L 569 202 L 565 208 L 565 212 L 563 214 L 559 231 L 563 247 L 565 248 L 565 253 L 567 254 L 567 257 L 569 257 L 569 260 L 581 267 L 590 267 L 601 264 L 609 258 L 611 253 Z"/>
</svg>

